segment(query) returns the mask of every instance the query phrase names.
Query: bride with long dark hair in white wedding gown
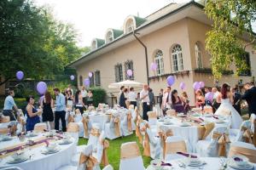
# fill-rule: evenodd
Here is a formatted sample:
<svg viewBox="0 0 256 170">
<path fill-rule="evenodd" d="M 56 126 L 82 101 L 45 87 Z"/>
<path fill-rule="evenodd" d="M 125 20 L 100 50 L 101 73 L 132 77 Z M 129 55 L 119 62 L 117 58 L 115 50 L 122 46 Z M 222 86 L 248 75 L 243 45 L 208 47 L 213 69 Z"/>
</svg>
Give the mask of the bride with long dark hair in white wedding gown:
<svg viewBox="0 0 256 170">
<path fill-rule="evenodd" d="M 231 127 L 240 128 L 242 119 L 236 109 L 233 107 L 233 94 L 230 92 L 230 86 L 224 83 L 221 88 L 221 105 L 219 105 L 218 110 L 215 115 L 223 115 L 224 111 L 230 111 L 231 113 Z"/>
</svg>

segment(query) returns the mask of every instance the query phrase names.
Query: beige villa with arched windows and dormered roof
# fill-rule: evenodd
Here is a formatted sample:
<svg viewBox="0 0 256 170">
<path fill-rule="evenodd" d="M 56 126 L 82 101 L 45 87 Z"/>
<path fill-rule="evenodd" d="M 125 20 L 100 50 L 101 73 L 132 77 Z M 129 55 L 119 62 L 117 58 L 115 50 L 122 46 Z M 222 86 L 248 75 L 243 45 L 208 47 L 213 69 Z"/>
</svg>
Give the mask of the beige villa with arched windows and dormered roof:
<svg viewBox="0 0 256 170">
<path fill-rule="evenodd" d="M 108 93 L 117 95 L 119 92 L 119 89 L 108 88 L 110 83 L 130 78 L 148 83 L 154 95 L 158 95 L 160 88 L 167 86 L 166 77 L 173 75 L 176 82 L 172 89 L 177 89 L 180 94 L 179 84 L 184 82 L 184 90 L 193 105 L 194 82 L 203 81 L 207 87 L 217 83 L 211 73 L 211 56 L 206 51 L 206 34 L 211 30 L 211 20 L 203 8 L 203 4 L 195 1 L 170 3 L 145 18 L 128 16 L 123 30 L 108 29 L 104 39 L 92 40 L 90 53 L 69 65 L 77 71 L 79 88 L 91 71 L 91 86 L 105 88 Z M 234 68 L 227 68 L 218 85 L 229 82 L 235 86 L 256 76 L 253 46 L 247 46 L 246 51 L 250 71 L 236 77 Z M 153 62 L 158 65 L 156 71 L 150 70 Z M 132 77 L 127 77 L 128 69 L 133 71 Z"/>
</svg>

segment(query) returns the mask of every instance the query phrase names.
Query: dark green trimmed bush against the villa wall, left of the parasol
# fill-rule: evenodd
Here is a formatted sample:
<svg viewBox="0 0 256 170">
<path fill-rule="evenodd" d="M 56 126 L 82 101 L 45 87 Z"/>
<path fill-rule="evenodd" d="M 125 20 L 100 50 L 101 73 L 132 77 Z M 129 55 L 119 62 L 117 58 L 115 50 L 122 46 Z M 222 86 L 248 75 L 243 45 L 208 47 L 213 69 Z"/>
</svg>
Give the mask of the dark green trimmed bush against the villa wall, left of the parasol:
<svg viewBox="0 0 256 170">
<path fill-rule="evenodd" d="M 106 90 L 103 88 L 90 88 L 93 94 L 93 105 L 97 106 L 99 103 L 106 103 Z"/>
</svg>

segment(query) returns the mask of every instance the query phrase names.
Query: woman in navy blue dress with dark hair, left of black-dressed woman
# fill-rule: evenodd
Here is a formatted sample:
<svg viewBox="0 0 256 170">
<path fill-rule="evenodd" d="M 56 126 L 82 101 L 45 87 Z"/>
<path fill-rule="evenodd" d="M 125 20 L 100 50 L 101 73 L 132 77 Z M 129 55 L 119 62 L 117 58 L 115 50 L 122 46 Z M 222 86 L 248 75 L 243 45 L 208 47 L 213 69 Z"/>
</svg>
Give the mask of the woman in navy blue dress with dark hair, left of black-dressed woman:
<svg viewBox="0 0 256 170">
<path fill-rule="evenodd" d="M 38 115 L 42 113 L 41 110 L 37 110 L 34 107 L 35 99 L 33 96 L 29 96 L 26 98 L 26 131 L 34 130 L 35 124 L 40 122 L 40 118 Z"/>
</svg>

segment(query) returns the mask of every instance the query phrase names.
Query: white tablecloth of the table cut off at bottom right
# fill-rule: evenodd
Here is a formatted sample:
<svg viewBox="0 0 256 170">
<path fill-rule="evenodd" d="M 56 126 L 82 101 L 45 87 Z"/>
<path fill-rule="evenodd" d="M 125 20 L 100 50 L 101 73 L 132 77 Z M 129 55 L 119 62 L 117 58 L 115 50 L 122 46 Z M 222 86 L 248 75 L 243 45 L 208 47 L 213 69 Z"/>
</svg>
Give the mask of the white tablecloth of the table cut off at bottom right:
<svg viewBox="0 0 256 170">
<path fill-rule="evenodd" d="M 182 163 L 184 163 L 186 161 L 186 158 L 181 158 L 181 159 L 177 159 L 177 160 L 172 160 L 172 161 L 166 161 L 166 163 L 171 163 L 172 164 L 172 167 L 166 167 L 164 168 L 164 170 L 169 170 L 169 169 L 175 169 L 175 170 L 190 170 L 190 169 L 204 169 L 204 170 L 219 170 L 221 166 L 221 159 L 218 158 L 218 157 L 201 157 L 200 158 L 201 161 L 204 161 L 205 164 L 201 167 L 189 167 L 189 166 L 186 166 L 186 167 L 180 167 L 179 165 L 183 165 Z M 224 159 L 225 161 L 227 161 L 227 159 Z M 254 167 L 252 168 L 255 169 L 256 168 L 256 164 L 254 163 L 253 164 Z M 154 170 L 154 167 L 152 167 L 151 165 L 149 165 L 147 167 L 147 170 Z M 227 167 L 226 170 L 237 170 L 233 167 Z"/>
</svg>

